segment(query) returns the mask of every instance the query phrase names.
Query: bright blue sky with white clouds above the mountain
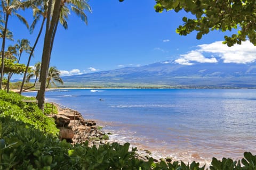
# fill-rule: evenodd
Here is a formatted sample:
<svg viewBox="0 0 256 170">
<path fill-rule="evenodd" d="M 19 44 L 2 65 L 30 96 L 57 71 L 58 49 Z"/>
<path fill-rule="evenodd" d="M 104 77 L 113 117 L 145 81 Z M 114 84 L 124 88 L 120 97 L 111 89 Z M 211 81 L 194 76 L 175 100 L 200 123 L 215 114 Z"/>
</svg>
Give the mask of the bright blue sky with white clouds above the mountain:
<svg viewBox="0 0 256 170">
<path fill-rule="evenodd" d="M 88 25 L 71 13 L 68 29 L 63 29 L 60 24 L 58 26 L 50 65 L 57 66 L 62 75 L 167 60 L 188 65 L 191 64 L 190 61 L 250 63 L 256 60 L 256 47 L 250 43 L 234 48 L 221 45 L 223 36 L 232 32 L 213 31 L 201 40 L 196 39 L 196 32 L 179 36 L 175 29 L 182 24 L 183 16 L 191 15 L 182 11 L 156 13 L 154 0 L 125 0 L 122 3 L 118 0 L 92 0 L 89 4 L 92 13 L 86 12 Z M 21 14 L 31 24 L 31 11 Z M 33 45 L 39 24 L 30 35 L 25 25 L 12 16 L 9 28 L 13 31 L 15 40 L 27 38 Z M 30 65 L 41 61 L 43 38 L 44 35 L 39 40 Z M 23 54 L 22 57 L 21 63 L 27 63 L 28 55 Z M 19 77 L 21 76 L 13 76 L 14 79 Z"/>
</svg>

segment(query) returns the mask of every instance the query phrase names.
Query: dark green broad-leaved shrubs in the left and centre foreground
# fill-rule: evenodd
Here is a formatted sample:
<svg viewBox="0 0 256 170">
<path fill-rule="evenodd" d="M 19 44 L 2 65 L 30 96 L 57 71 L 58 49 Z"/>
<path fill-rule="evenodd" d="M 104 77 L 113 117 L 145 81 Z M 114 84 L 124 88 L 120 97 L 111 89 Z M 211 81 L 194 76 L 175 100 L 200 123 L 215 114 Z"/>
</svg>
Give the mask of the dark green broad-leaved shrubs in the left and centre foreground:
<svg viewBox="0 0 256 170">
<path fill-rule="evenodd" d="M 149 169 L 153 161 L 135 158 L 136 149 L 129 146 L 73 146 L 33 125 L 0 117 L 0 169 Z"/>
</svg>

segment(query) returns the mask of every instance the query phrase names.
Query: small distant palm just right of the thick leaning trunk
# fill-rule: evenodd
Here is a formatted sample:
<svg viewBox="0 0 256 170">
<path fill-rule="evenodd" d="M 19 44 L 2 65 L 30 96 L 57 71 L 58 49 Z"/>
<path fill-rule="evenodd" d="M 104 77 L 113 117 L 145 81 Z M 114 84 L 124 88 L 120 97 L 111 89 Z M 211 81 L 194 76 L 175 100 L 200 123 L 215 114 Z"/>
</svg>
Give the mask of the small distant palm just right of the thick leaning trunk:
<svg viewBox="0 0 256 170">
<path fill-rule="evenodd" d="M 47 81 L 46 89 L 49 87 L 50 84 L 51 85 L 53 84 L 54 86 L 56 86 L 54 81 L 60 84 L 63 84 L 63 80 L 60 78 L 60 71 L 57 70 L 55 66 L 50 67 L 46 81 Z"/>
</svg>

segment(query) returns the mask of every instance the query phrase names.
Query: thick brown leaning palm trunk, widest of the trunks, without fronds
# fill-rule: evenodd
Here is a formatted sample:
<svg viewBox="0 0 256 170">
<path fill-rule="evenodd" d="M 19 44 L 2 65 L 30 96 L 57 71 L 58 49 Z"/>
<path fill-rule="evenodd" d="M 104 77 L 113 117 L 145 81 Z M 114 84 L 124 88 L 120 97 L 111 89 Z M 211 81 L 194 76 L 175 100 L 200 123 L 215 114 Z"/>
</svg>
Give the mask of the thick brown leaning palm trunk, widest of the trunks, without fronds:
<svg viewBox="0 0 256 170">
<path fill-rule="evenodd" d="M 54 29 L 57 27 L 59 23 L 58 19 L 60 15 L 60 3 L 61 3 L 61 0 L 55 1 L 50 29 L 46 30 L 46 33 L 45 33 L 44 50 L 42 55 L 42 65 L 41 65 L 41 72 L 40 72 L 41 87 L 37 94 L 38 107 L 42 111 L 44 111 L 45 86 L 46 86 L 47 72 L 48 72 L 49 63 L 50 63 L 51 50 L 53 46 L 52 42 L 56 32 L 54 31 Z M 51 10 L 51 9 L 48 8 L 48 10 Z"/>
</svg>

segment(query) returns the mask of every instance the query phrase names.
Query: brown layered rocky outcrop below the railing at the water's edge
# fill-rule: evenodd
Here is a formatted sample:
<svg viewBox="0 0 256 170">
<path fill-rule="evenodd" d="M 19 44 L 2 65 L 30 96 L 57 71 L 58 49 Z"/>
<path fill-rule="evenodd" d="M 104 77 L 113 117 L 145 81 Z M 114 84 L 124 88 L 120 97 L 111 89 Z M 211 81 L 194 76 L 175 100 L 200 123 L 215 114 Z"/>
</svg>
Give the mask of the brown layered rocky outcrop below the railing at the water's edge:
<svg viewBox="0 0 256 170">
<path fill-rule="evenodd" d="M 108 136 L 98 129 L 95 121 L 84 120 L 81 113 L 71 109 L 59 108 L 58 110 L 57 115 L 49 116 L 55 119 L 61 140 L 66 139 L 71 143 L 89 141 L 90 145 L 105 143 Z"/>
</svg>

